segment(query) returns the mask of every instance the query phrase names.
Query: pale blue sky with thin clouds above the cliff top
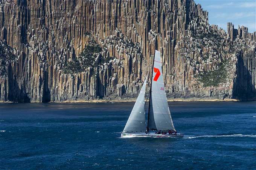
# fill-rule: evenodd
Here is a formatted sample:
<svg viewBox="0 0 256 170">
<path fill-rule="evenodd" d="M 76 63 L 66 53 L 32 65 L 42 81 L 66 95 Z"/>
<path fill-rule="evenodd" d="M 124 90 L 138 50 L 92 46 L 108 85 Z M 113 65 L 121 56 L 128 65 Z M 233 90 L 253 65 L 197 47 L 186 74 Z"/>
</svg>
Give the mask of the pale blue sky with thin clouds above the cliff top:
<svg viewBox="0 0 256 170">
<path fill-rule="evenodd" d="M 237 29 L 243 25 L 248 32 L 256 31 L 256 0 L 194 0 L 208 11 L 209 24 L 216 24 L 227 30 L 231 22 Z"/>
</svg>

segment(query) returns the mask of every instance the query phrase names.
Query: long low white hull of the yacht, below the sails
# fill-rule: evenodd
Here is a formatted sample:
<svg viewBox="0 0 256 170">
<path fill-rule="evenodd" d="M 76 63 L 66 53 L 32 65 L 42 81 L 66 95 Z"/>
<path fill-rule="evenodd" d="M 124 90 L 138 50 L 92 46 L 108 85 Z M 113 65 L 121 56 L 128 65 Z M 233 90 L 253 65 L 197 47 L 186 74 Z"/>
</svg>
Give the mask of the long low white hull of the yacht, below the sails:
<svg viewBox="0 0 256 170">
<path fill-rule="evenodd" d="M 184 135 L 181 133 L 177 133 L 169 135 L 162 135 L 162 134 L 155 134 L 155 133 L 143 133 L 143 132 L 139 132 L 139 133 L 126 133 L 126 132 L 122 132 L 121 133 L 121 138 L 131 138 L 131 137 L 155 137 L 155 138 L 163 138 L 163 137 L 178 137 L 178 138 L 183 138 Z"/>
</svg>

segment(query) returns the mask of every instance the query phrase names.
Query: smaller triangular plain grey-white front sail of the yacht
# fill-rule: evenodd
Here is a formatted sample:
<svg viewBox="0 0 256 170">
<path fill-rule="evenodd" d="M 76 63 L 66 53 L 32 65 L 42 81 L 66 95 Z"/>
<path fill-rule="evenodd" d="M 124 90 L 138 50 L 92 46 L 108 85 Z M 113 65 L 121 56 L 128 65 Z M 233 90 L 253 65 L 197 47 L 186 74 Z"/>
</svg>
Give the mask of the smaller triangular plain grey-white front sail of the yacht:
<svg viewBox="0 0 256 170">
<path fill-rule="evenodd" d="M 145 132 L 146 131 L 146 120 L 145 120 L 145 79 L 140 94 L 134 104 L 133 110 L 129 116 L 129 119 L 123 129 L 123 132 Z"/>
</svg>

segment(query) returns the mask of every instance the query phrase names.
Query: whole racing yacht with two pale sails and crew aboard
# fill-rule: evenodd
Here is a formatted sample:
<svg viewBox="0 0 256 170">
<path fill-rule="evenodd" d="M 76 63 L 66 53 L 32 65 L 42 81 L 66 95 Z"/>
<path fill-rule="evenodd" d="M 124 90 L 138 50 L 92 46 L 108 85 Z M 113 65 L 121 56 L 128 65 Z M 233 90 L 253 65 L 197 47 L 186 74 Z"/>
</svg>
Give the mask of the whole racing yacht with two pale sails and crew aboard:
<svg viewBox="0 0 256 170">
<path fill-rule="evenodd" d="M 160 52 L 155 50 L 149 91 L 149 107 L 145 113 L 145 79 L 129 119 L 121 132 L 121 137 L 183 137 L 173 125 L 169 110 L 165 86 L 163 83 L 162 60 Z"/>
</svg>

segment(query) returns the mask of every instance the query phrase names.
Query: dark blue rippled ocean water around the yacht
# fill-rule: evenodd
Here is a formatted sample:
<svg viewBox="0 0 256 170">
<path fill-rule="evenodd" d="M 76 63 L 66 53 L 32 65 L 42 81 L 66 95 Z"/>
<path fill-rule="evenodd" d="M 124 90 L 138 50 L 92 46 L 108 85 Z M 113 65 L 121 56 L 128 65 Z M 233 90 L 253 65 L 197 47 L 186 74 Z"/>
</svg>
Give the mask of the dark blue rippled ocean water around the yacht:
<svg viewBox="0 0 256 170">
<path fill-rule="evenodd" d="M 119 138 L 134 103 L 0 104 L 0 169 L 255 169 L 256 102 L 170 102 L 184 138 Z"/>
</svg>

